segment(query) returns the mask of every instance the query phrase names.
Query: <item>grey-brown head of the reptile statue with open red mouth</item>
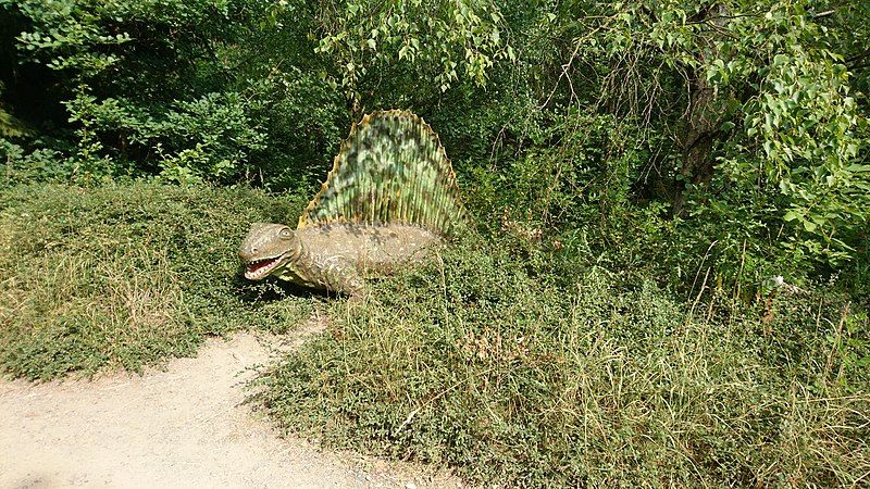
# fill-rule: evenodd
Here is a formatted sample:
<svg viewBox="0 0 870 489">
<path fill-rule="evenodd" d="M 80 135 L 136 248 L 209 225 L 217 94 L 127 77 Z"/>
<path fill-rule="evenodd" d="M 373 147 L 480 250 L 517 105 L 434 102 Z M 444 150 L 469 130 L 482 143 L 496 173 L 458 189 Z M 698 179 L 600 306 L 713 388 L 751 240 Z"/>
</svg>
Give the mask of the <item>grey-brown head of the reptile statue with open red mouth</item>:
<svg viewBox="0 0 870 489">
<path fill-rule="evenodd" d="M 238 250 L 245 278 L 262 280 L 281 272 L 298 253 L 299 240 L 283 224 L 254 223 Z"/>
</svg>

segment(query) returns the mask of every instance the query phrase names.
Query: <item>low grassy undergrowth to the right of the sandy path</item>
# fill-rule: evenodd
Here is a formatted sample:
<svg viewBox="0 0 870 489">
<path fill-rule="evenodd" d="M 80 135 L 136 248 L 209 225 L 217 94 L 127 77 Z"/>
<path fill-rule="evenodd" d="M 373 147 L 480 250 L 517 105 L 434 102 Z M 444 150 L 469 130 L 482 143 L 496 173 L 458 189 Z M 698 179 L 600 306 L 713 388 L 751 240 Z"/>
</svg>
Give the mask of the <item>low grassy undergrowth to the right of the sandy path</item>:
<svg viewBox="0 0 870 489">
<path fill-rule="evenodd" d="M 870 473 L 865 312 L 674 301 L 469 240 L 333 304 L 260 381 L 288 431 L 508 487 L 834 487 Z M 622 285 L 616 285 L 622 284 Z"/>
</svg>

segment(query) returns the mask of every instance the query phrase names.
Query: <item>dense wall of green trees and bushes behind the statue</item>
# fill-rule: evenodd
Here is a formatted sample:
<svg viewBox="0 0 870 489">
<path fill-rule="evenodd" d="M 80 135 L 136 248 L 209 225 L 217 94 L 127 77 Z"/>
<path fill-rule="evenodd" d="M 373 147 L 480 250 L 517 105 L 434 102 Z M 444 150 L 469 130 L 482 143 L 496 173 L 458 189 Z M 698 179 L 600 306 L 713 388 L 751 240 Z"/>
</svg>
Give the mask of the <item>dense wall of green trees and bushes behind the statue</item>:
<svg viewBox="0 0 870 489">
<path fill-rule="evenodd" d="M 861 9 L 832 3 L 834 14 L 820 15 L 823 5 L 780 0 L 3 8 L 26 20 L 20 59 L 65 87 L 74 145 L 47 148 L 51 175 L 311 184 L 351 121 L 347 99 L 353 118 L 363 108 L 418 106 L 460 173 L 488 180 L 510 196 L 499 204 L 554 234 L 582 234 L 596 208 L 602 226 L 672 208 L 679 237 L 664 246 L 680 263 L 713 242 L 743 250 L 747 241 L 759 262 L 785 255 L 794 266 L 782 273 L 838 269 L 860 253 L 870 172 L 860 65 L 850 71 L 862 38 L 850 26 Z M 587 137 L 598 147 L 579 150 Z M 529 181 L 547 189 L 533 189 L 534 202 L 511 188 L 523 166 L 549 168 Z M 654 260 L 660 247 L 636 252 Z"/>
</svg>

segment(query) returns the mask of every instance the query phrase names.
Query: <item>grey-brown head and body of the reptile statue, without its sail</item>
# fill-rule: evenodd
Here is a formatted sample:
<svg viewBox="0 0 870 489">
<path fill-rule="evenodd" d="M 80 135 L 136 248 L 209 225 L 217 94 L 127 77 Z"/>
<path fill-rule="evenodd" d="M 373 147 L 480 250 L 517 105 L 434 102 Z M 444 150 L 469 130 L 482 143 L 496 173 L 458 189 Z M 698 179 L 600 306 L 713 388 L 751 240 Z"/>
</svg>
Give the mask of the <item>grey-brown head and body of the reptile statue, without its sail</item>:
<svg viewBox="0 0 870 489">
<path fill-rule="evenodd" d="M 290 229 L 257 223 L 241 243 L 245 277 L 269 275 L 307 287 L 359 294 L 363 277 L 390 274 L 440 242 L 438 234 L 407 224 L 350 223 Z"/>
</svg>

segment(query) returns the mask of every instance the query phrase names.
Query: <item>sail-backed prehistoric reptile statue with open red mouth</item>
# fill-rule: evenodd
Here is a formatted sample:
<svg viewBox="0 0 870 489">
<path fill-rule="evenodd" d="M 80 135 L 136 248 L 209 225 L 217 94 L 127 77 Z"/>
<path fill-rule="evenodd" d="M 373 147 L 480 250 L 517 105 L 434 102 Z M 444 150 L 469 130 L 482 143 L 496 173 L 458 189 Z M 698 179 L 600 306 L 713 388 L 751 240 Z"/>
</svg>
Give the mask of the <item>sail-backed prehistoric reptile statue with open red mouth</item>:
<svg viewBox="0 0 870 489">
<path fill-rule="evenodd" d="M 248 279 L 271 275 L 355 296 L 363 278 L 419 261 L 463 221 L 435 131 L 410 112 L 381 111 L 351 127 L 296 229 L 256 223 L 239 256 Z"/>
</svg>

